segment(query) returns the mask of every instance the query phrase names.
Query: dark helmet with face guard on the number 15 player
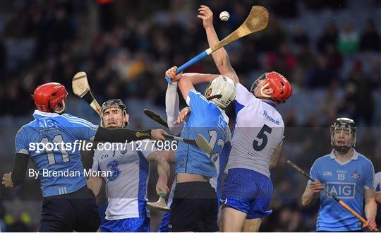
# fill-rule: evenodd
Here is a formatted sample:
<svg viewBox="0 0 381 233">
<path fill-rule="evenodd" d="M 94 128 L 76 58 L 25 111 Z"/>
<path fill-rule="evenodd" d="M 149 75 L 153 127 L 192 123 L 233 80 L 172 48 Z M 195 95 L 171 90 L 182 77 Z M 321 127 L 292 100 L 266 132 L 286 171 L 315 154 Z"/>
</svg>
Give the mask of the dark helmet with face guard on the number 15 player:
<svg viewBox="0 0 381 233">
<path fill-rule="evenodd" d="M 336 121 L 334 121 L 334 124 L 331 126 L 331 145 L 333 146 L 334 150 L 336 150 L 340 154 L 348 153 L 351 148 L 354 148 L 356 146 L 356 125 L 352 119 L 349 118 L 338 118 Z M 346 145 L 337 145 L 335 142 L 334 136 L 337 135 L 337 133 L 341 133 L 341 136 L 343 136 L 344 133 L 349 133 L 351 138 L 348 142 L 346 142 Z"/>
</svg>

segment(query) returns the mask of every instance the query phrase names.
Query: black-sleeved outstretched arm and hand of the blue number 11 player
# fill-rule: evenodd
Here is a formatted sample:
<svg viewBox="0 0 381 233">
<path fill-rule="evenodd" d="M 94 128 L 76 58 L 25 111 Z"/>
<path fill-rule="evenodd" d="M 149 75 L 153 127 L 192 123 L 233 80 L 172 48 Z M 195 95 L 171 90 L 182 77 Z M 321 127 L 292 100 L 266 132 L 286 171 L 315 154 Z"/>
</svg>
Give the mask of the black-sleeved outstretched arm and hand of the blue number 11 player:
<svg viewBox="0 0 381 233">
<path fill-rule="evenodd" d="M 126 143 L 129 141 L 139 141 L 143 139 L 153 139 L 165 141 L 163 129 L 131 130 L 131 129 L 105 129 L 99 127 L 95 134 L 94 141 L 111 141 L 113 143 Z"/>
</svg>

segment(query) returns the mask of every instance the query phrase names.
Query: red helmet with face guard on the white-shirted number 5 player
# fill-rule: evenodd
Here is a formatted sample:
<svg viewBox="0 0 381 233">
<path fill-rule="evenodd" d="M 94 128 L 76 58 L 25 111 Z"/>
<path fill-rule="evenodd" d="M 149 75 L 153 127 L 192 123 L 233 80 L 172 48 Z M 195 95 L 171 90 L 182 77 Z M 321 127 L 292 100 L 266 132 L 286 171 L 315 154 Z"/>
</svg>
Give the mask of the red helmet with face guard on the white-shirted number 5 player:
<svg viewBox="0 0 381 233">
<path fill-rule="evenodd" d="M 282 74 L 277 72 L 264 73 L 257 78 L 251 86 L 250 92 L 254 92 L 257 88 L 260 88 L 260 99 L 272 100 L 275 104 L 286 102 L 286 100 L 292 94 L 291 84 L 289 80 L 286 80 Z M 263 90 L 266 88 L 272 88 L 272 95 L 265 95 Z"/>
</svg>

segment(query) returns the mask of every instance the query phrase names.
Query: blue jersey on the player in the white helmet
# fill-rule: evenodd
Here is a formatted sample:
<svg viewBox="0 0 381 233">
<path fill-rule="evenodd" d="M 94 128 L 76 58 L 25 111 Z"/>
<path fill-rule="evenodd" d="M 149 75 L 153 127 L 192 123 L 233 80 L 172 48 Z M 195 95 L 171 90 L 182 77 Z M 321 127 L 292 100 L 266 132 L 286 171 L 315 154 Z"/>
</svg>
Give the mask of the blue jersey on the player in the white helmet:
<svg viewBox="0 0 381 233">
<path fill-rule="evenodd" d="M 212 155 L 209 156 L 193 145 L 179 142 L 176 150 L 176 174 L 200 174 L 205 177 L 217 177 L 214 162 L 228 139 L 229 118 L 222 109 L 212 101 L 208 101 L 200 92 L 191 90 L 186 103 L 192 112 L 186 121 L 182 138 L 197 138 L 200 133 L 212 146 Z"/>
</svg>

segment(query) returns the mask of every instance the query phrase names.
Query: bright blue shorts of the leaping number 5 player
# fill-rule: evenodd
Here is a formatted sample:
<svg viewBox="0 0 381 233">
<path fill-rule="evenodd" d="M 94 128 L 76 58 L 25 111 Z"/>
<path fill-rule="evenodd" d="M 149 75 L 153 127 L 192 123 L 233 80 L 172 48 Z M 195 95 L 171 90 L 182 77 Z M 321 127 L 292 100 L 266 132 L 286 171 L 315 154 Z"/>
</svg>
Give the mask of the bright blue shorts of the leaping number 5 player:
<svg viewBox="0 0 381 233">
<path fill-rule="evenodd" d="M 271 215 L 267 210 L 272 196 L 272 181 L 264 174 L 245 168 L 229 169 L 221 193 L 224 205 L 246 213 L 246 218 Z"/>
</svg>

